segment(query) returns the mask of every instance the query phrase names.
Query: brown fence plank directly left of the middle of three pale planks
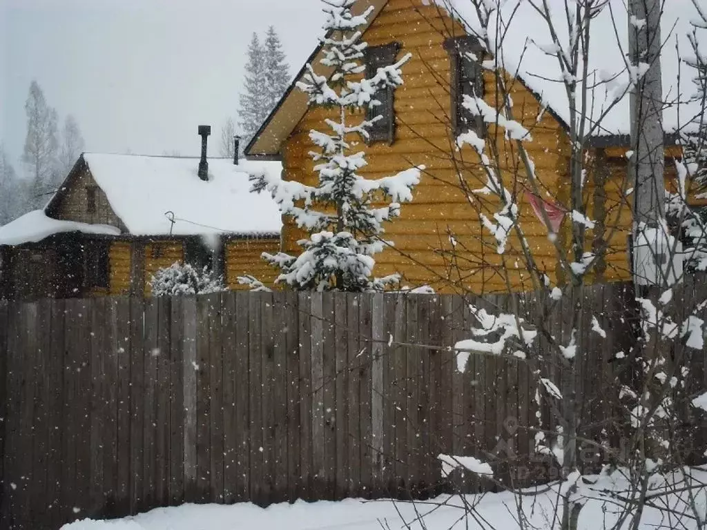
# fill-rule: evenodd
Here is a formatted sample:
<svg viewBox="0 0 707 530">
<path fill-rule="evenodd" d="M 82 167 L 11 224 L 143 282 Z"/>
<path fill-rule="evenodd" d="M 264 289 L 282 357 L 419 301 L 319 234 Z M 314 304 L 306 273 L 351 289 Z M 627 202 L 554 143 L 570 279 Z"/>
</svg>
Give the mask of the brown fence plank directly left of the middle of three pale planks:
<svg viewBox="0 0 707 530">
<path fill-rule="evenodd" d="M 314 496 L 312 477 L 315 474 L 312 461 L 312 419 L 314 400 L 312 399 L 312 295 L 297 295 L 299 311 L 299 405 L 300 405 L 300 483 L 299 495 L 305 500 Z M 309 338 L 308 338 L 309 337 Z"/>
</svg>

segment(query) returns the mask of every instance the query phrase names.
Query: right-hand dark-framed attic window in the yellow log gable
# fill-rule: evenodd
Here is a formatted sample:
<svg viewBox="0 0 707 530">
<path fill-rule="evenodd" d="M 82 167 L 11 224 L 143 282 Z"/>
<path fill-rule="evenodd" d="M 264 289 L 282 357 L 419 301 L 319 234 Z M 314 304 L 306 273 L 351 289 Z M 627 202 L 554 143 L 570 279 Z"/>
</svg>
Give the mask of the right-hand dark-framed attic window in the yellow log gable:
<svg viewBox="0 0 707 530">
<path fill-rule="evenodd" d="M 486 136 L 486 126 L 480 116 L 462 106 L 464 95 L 484 97 L 484 70 L 481 58 L 484 48 L 476 37 L 452 37 L 445 40 L 444 47 L 450 57 L 450 95 L 452 131 L 459 136 L 465 131 L 475 131 L 479 138 Z"/>
</svg>

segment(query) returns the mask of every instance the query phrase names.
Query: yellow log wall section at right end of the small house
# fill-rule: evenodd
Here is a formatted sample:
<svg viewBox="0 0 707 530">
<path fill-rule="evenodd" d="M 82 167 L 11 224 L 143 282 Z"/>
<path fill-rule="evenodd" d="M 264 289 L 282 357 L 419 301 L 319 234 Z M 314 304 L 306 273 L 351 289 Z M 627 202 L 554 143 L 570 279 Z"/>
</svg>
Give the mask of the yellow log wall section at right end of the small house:
<svg viewBox="0 0 707 530">
<path fill-rule="evenodd" d="M 280 249 L 280 240 L 233 240 L 226 243 L 225 279 L 228 288 L 247 289 L 238 283 L 238 276 L 250 274 L 266 285 L 271 285 L 277 277 L 277 271 L 261 257 L 263 252 L 276 254 Z"/>
</svg>

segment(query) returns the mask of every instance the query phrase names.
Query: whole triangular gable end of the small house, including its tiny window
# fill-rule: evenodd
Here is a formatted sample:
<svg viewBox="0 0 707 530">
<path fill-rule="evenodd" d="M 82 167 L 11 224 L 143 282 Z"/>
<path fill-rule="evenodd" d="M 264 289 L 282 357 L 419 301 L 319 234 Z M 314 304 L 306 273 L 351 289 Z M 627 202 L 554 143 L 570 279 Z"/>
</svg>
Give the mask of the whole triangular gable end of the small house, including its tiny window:
<svg viewBox="0 0 707 530">
<path fill-rule="evenodd" d="M 108 197 L 91 175 L 83 155 L 45 208 L 47 216 L 77 223 L 111 225 L 121 232 L 127 227 L 110 206 Z"/>
</svg>

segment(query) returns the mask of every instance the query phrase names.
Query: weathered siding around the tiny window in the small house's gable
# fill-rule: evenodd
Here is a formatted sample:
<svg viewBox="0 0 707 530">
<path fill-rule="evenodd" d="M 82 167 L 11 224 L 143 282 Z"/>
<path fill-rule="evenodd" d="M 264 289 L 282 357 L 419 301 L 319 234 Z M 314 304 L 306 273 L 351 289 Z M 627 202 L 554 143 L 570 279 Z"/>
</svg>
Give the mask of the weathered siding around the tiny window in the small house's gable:
<svg viewBox="0 0 707 530">
<path fill-rule="evenodd" d="M 124 230 L 122 221 L 111 208 L 103 189 L 98 187 L 93 175 L 85 165 L 78 167 L 76 172 L 64 183 L 64 186 L 64 195 L 54 206 L 52 217 L 78 223 L 112 225 Z M 95 212 L 93 213 L 88 211 L 88 195 L 86 194 L 86 189 L 90 187 L 95 187 Z"/>
</svg>

